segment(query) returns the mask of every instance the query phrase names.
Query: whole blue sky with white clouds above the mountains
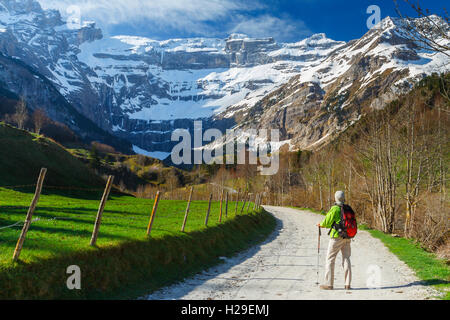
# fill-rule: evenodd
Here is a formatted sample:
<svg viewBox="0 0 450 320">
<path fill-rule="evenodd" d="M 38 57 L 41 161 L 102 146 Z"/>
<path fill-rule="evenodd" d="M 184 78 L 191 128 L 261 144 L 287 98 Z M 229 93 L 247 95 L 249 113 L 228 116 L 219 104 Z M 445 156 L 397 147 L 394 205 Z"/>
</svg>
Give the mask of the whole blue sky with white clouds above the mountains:
<svg viewBox="0 0 450 320">
<path fill-rule="evenodd" d="M 417 0 L 412 0 L 417 2 Z M 294 42 L 314 33 L 348 41 L 368 31 L 370 5 L 381 18 L 397 16 L 392 0 L 39 0 L 44 8 L 78 6 L 81 21 L 95 20 L 107 35 L 138 35 L 153 39 L 227 37 L 245 33 Z M 400 4 L 403 0 L 398 0 Z M 443 13 L 447 1 L 420 1 L 432 13 Z M 407 6 L 404 12 L 414 16 Z M 449 8 L 450 9 L 450 8 Z"/>
</svg>

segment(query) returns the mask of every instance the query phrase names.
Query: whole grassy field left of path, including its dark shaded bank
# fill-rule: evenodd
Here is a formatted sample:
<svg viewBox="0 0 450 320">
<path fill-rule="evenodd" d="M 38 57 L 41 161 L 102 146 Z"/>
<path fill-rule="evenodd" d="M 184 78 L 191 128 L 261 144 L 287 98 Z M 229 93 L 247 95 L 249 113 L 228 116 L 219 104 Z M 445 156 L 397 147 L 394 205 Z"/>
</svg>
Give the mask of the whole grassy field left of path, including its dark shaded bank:
<svg viewBox="0 0 450 320">
<path fill-rule="evenodd" d="M 45 187 L 44 187 L 45 189 Z M 22 190 L 23 191 L 23 190 Z M 33 215 L 19 262 L 12 261 L 21 225 L 33 193 L 0 188 L 0 298 L 85 299 L 136 298 L 182 280 L 261 241 L 274 219 L 262 210 L 228 217 L 219 224 L 220 203 L 193 201 L 181 232 L 187 201 L 160 201 L 150 238 L 146 235 L 153 200 L 113 194 L 106 204 L 97 247 L 89 241 L 101 191 L 43 193 Z M 242 203 L 239 203 L 239 210 Z M 244 210 L 244 213 L 246 210 Z M 3 229 L 2 229 L 3 228 Z M 83 290 L 69 291 L 67 266 L 79 265 Z"/>
</svg>

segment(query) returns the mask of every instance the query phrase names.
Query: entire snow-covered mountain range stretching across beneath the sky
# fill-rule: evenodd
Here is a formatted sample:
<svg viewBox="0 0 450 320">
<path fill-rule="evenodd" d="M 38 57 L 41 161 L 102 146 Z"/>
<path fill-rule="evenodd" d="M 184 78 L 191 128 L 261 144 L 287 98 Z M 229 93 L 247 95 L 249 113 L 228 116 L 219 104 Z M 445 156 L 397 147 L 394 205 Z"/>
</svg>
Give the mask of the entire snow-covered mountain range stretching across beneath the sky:
<svg viewBox="0 0 450 320">
<path fill-rule="evenodd" d="M 388 18 L 349 43 L 324 34 L 297 43 L 242 34 L 156 41 L 105 37 L 94 22 L 69 28 L 59 12 L 35 0 L 0 0 L 0 52 L 48 79 L 99 127 L 150 155 L 170 152 L 171 132 L 192 129 L 195 119 L 204 128 L 280 127 L 293 146 L 311 147 L 342 126 L 314 131 L 317 110 L 340 123 L 333 112 L 362 103 L 369 88 L 372 106 L 381 106 L 411 79 L 448 68 L 448 60 L 418 49 L 398 28 Z M 374 85 L 380 76 L 383 90 Z M 38 107 L 35 86 L 2 86 Z M 352 111 L 345 121 L 360 114 Z"/>
</svg>

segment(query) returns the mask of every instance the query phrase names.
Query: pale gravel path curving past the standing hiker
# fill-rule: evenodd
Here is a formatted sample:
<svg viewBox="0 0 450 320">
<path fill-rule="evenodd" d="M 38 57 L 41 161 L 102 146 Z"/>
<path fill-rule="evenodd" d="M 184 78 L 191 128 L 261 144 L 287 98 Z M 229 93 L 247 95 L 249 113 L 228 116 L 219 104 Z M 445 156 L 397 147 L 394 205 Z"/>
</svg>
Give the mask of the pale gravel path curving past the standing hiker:
<svg viewBox="0 0 450 320">
<path fill-rule="evenodd" d="M 360 230 L 352 241 L 352 290 L 344 290 L 341 255 L 336 259 L 335 290 L 317 282 L 317 223 L 323 216 L 291 208 L 265 206 L 278 220 L 276 231 L 255 246 L 182 283 L 144 299 L 427 299 L 437 292 L 421 285 L 394 254 Z M 325 230 L 323 230 L 325 231 Z M 320 282 L 329 238 L 322 232 Z M 376 286 L 377 288 L 373 288 Z"/>
</svg>

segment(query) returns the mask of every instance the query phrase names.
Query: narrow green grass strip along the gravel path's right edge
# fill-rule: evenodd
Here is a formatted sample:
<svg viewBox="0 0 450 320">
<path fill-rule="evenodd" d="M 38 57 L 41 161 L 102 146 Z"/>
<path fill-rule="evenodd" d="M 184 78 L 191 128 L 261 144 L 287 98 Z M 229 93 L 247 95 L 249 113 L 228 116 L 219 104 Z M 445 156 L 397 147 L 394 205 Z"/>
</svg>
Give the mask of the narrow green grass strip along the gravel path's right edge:
<svg viewBox="0 0 450 320">
<path fill-rule="evenodd" d="M 308 208 L 296 209 L 324 214 Z M 444 260 L 438 259 L 435 254 L 425 251 L 413 240 L 393 237 L 379 230 L 369 229 L 364 225 L 360 225 L 359 228 L 367 230 L 373 237 L 380 239 L 392 253 L 416 273 L 419 279 L 423 280 L 426 285 L 432 285 L 443 292 L 445 300 L 450 300 L 450 267 Z"/>
</svg>

